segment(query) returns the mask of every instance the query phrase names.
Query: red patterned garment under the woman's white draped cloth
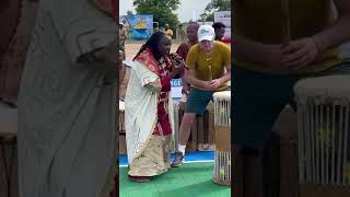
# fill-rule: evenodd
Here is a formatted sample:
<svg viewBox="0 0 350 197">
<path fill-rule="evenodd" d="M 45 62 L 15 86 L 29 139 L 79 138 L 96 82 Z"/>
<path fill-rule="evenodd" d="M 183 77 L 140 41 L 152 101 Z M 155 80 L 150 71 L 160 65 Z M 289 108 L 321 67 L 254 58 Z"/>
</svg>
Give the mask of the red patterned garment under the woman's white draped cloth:
<svg viewBox="0 0 350 197">
<path fill-rule="evenodd" d="M 168 118 L 167 103 L 171 91 L 172 61 L 168 57 L 156 60 L 150 48 L 143 50 L 137 58 L 137 61 L 147 66 L 160 77 L 162 90 L 158 100 L 158 123 L 153 135 L 167 136 L 172 134 L 172 127 Z"/>
</svg>

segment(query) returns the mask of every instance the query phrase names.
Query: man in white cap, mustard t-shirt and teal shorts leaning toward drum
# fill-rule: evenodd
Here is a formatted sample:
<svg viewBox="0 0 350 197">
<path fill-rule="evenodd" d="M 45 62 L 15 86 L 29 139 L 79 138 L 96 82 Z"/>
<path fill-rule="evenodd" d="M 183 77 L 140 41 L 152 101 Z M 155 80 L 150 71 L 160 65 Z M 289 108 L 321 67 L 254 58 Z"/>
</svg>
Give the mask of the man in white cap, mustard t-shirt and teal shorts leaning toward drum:
<svg viewBox="0 0 350 197">
<path fill-rule="evenodd" d="M 173 167 L 180 166 L 190 126 L 196 115 L 202 115 L 212 95 L 228 89 L 231 79 L 231 49 L 221 42 L 214 42 L 214 28 L 201 25 L 198 28 L 198 44 L 194 45 L 186 58 L 185 80 L 191 85 L 185 114 L 179 127 L 179 144 Z"/>
</svg>

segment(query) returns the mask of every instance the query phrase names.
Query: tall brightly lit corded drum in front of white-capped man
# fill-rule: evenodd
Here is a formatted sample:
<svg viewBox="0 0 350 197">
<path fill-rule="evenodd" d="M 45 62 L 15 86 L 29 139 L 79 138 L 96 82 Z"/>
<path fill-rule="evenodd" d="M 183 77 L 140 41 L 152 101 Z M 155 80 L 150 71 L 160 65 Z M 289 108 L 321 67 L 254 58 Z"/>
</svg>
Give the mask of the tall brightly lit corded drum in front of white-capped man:
<svg viewBox="0 0 350 197">
<path fill-rule="evenodd" d="M 231 185 L 231 91 L 217 92 L 214 101 L 215 161 L 213 181 Z"/>
</svg>

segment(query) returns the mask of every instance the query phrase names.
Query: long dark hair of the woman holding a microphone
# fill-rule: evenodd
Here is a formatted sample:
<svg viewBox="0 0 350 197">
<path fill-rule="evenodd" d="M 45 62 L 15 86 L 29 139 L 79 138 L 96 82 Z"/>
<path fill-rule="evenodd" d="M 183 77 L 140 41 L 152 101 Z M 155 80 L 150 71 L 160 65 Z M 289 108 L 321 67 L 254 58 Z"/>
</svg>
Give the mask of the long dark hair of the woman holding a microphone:
<svg viewBox="0 0 350 197">
<path fill-rule="evenodd" d="M 156 60 L 161 59 L 162 56 L 158 48 L 158 44 L 160 43 L 162 37 L 166 37 L 166 34 L 164 32 L 153 33 L 151 37 L 141 46 L 139 53 L 135 56 L 133 60 L 147 48 L 150 48 L 152 50 L 152 54 Z"/>
</svg>

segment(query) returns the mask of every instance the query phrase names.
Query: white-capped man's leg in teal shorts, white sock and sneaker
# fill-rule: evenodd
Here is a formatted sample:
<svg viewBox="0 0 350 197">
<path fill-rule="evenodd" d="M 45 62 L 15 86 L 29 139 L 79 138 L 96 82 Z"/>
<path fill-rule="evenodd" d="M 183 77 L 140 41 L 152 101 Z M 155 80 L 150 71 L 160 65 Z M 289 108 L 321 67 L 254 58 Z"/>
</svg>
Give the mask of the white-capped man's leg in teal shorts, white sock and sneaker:
<svg viewBox="0 0 350 197">
<path fill-rule="evenodd" d="M 173 167 L 182 164 L 186 151 L 186 144 L 190 135 L 190 127 L 195 121 L 196 114 L 203 114 L 209 101 L 212 99 L 213 92 L 200 91 L 191 89 L 189 91 L 188 103 L 179 127 L 179 143 L 178 152 L 175 160 L 172 162 Z"/>
</svg>

